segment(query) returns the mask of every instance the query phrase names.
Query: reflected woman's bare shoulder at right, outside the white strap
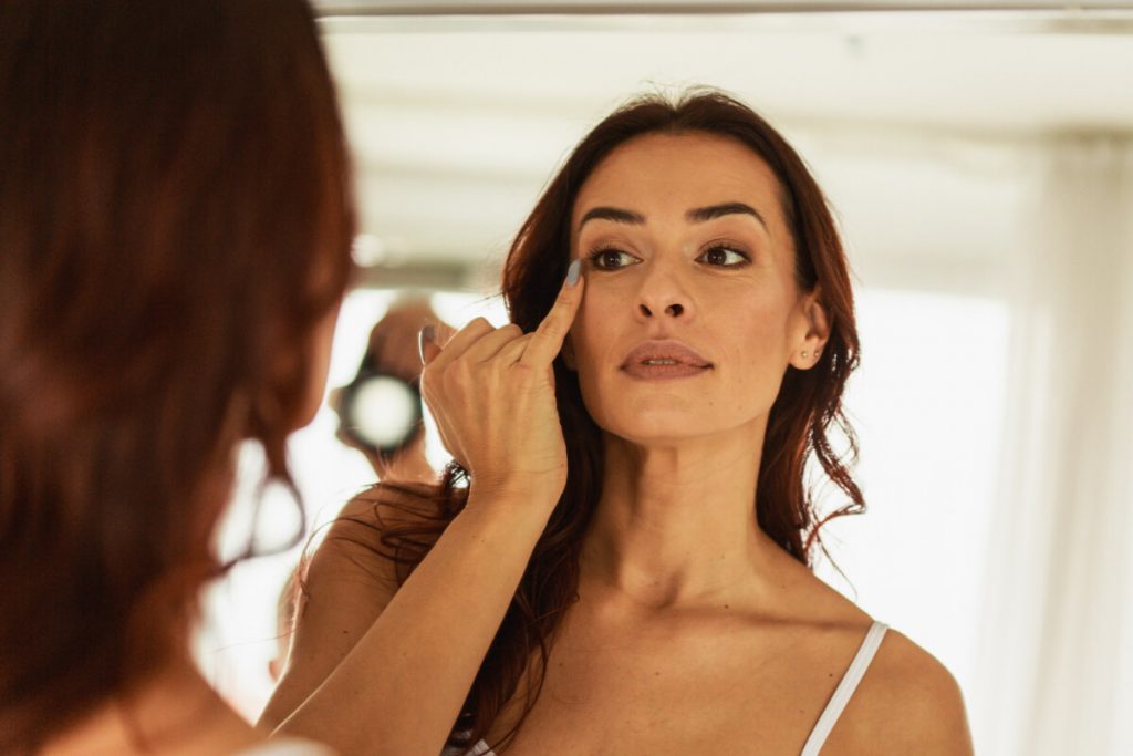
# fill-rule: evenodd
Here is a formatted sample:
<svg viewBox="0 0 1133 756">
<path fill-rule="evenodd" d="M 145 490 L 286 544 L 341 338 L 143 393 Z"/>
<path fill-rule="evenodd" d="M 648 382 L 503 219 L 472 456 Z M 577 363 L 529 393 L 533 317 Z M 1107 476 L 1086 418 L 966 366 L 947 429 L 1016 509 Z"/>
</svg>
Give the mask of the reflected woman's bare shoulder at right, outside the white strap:
<svg viewBox="0 0 1133 756">
<path fill-rule="evenodd" d="M 966 756 L 971 732 L 963 695 L 932 654 L 888 630 L 830 733 L 832 753 Z M 841 732 L 840 732 L 841 730 Z"/>
</svg>

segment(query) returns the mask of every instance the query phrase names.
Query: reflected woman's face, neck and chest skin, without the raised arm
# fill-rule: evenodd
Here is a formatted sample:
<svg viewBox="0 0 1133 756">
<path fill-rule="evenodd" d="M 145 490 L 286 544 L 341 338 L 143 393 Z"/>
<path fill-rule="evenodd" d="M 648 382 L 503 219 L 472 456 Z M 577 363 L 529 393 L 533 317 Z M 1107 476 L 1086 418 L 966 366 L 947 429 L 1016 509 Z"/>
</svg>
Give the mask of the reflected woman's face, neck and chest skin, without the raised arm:
<svg viewBox="0 0 1133 756">
<path fill-rule="evenodd" d="M 798 754 L 869 629 L 758 528 L 751 504 L 782 376 L 809 369 L 829 334 L 818 292 L 795 282 L 778 197 L 757 155 L 707 135 L 630 142 L 579 194 L 571 254 L 588 288 L 566 358 L 604 431 L 606 477 L 580 601 L 510 754 Z M 736 202 L 763 221 L 687 216 Z M 595 207 L 642 220 L 581 223 Z M 721 243 L 732 252 L 713 252 Z M 653 338 L 713 369 L 629 377 L 624 355 Z M 970 751 L 955 681 L 894 630 L 823 750 Z"/>
</svg>

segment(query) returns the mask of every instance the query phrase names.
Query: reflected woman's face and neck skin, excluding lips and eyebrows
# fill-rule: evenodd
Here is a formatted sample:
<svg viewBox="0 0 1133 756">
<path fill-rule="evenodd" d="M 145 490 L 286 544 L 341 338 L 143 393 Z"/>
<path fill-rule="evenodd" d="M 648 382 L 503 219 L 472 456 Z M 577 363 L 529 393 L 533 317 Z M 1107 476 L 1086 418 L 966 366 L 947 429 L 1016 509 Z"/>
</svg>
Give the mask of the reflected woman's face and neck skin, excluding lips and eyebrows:
<svg viewBox="0 0 1133 756">
<path fill-rule="evenodd" d="M 695 207 L 747 213 L 689 221 Z M 777 182 L 753 153 L 706 136 L 648 136 L 604 161 L 576 202 L 644 222 L 595 219 L 572 239 L 590 283 L 570 334 L 582 398 L 604 431 L 606 478 L 588 575 L 648 604 L 708 598 L 740 583 L 767 594 L 780 549 L 751 507 L 770 407 L 789 365 L 828 338 L 815 292 L 799 290 Z M 597 258 L 590 258 L 595 250 Z M 748 260 L 750 258 L 750 260 Z M 713 368 L 645 382 L 620 369 L 646 339 L 670 338 Z M 714 516 L 704 517 L 705 502 Z M 705 560 L 704 554 L 719 554 Z"/>
</svg>

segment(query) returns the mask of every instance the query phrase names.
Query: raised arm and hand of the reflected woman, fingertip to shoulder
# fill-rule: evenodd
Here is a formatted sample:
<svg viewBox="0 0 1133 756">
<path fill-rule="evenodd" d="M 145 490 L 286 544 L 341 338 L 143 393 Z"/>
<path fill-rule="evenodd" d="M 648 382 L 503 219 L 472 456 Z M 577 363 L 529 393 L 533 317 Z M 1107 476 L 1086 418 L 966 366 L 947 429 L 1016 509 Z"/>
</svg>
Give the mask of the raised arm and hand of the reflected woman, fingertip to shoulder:
<svg viewBox="0 0 1133 756">
<path fill-rule="evenodd" d="M 468 502 L 400 589 L 365 545 L 324 543 L 265 724 L 347 756 L 441 751 L 565 486 L 552 363 L 585 288 L 571 270 L 536 331 L 477 318 L 423 345 L 421 393 L 471 474 Z"/>
</svg>

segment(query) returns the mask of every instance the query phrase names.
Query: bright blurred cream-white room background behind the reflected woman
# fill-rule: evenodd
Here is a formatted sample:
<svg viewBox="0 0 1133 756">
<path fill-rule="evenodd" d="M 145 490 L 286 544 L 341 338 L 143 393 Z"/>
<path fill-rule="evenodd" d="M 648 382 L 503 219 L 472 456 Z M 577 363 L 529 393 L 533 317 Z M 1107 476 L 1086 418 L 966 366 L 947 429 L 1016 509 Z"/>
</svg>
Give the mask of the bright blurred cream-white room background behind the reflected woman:
<svg viewBox="0 0 1133 756">
<path fill-rule="evenodd" d="M 819 574 L 940 659 L 980 754 L 1133 753 L 1133 8 L 1102 2 L 316 2 L 357 164 L 330 388 L 406 298 L 506 322 L 512 235 L 627 97 L 727 90 L 795 145 L 854 269 L 868 513 Z M 334 394 L 291 459 L 314 537 L 373 483 Z M 420 453 L 445 461 L 425 418 Z M 220 547 L 297 525 L 247 449 Z M 259 500 L 261 506 L 255 502 Z M 843 503 L 830 495 L 827 506 Z M 249 719 L 300 549 L 206 596 Z"/>
</svg>

